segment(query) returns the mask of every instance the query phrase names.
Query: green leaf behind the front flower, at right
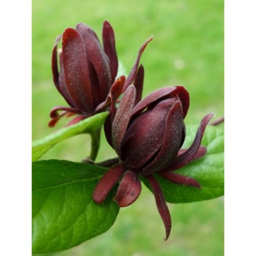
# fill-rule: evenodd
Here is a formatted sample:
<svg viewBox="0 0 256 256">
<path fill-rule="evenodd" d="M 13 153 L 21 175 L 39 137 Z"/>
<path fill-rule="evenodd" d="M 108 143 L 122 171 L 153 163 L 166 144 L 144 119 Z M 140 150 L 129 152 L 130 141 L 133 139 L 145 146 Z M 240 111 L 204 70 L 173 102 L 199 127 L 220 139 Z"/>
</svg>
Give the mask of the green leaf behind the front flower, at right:
<svg viewBox="0 0 256 256">
<path fill-rule="evenodd" d="M 195 138 L 198 126 L 187 126 L 187 136 L 183 148 L 188 148 Z M 174 184 L 156 175 L 164 193 L 166 202 L 188 203 L 208 200 L 224 195 L 224 129 L 209 125 L 204 134 L 202 144 L 207 148 L 207 154 L 200 159 L 175 171 L 182 175 L 198 180 L 202 188 Z M 147 180 L 141 177 L 146 186 L 152 191 Z"/>
</svg>

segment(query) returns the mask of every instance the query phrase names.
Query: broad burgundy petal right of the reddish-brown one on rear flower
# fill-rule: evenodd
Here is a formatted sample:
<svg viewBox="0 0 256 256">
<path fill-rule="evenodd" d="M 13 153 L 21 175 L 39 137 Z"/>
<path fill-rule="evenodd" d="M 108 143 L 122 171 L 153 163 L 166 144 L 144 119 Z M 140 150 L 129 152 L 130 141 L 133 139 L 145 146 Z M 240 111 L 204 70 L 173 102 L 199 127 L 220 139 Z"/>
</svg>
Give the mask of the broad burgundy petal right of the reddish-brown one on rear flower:
<svg viewBox="0 0 256 256">
<path fill-rule="evenodd" d="M 76 26 L 83 38 L 84 47 L 88 56 L 88 67 L 92 82 L 92 92 L 95 108 L 108 97 L 112 84 L 111 68 L 108 56 L 100 45 L 95 32 L 83 23 Z M 97 95 L 100 97 L 97 98 Z"/>
</svg>

